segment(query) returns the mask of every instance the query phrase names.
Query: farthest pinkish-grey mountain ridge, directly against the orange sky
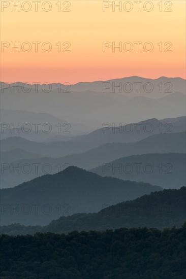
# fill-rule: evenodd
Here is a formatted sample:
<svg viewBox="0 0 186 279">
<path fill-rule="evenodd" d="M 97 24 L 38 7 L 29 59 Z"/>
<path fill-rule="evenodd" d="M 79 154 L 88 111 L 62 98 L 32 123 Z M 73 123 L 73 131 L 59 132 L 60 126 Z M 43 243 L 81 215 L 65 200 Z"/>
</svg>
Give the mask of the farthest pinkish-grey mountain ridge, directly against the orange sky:
<svg viewBox="0 0 186 279">
<path fill-rule="evenodd" d="M 71 85 L 69 90 L 74 91 L 74 92 L 95 92 L 95 93 L 101 93 L 103 92 L 103 83 L 108 83 L 107 86 L 109 87 L 107 90 L 105 90 L 107 93 L 113 93 L 114 86 L 119 86 L 119 83 L 121 83 L 121 93 L 123 95 L 131 95 L 133 94 L 134 96 L 136 95 L 146 95 L 146 96 L 153 96 L 153 97 L 159 97 L 165 94 L 170 94 L 171 92 L 176 92 L 180 91 L 182 93 L 185 93 L 185 80 L 182 78 L 168 78 L 168 77 L 160 77 L 158 79 L 147 79 L 143 77 L 138 77 L 138 76 L 132 76 L 132 77 L 124 77 L 124 78 L 119 78 L 119 79 L 111 79 L 111 80 L 106 80 L 106 81 L 94 81 L 94 82 L 78 82 L 76 84 Z M 125 90 L 125 84 L 132 84 L 132 86 L 126 87 Z M 137 85 L 135 83 L 140 83 L 139 86 L 139 92 L 137 92 Z M 152 90 L 147 86 L 145 87 L 145 84 L 150 83 L 152 85 Z M 162 83 L 162 90 L 160 89 Z M 3 87 L 3 83 L 2 87 Z M 17 85 L 18 82 L 15 82 L 14 85 Z M 26 83 L 21 83 L 21 89 L 25 87 L 28 88 L 28 85 Z M 23 85 L 23 86 L 22 86 Z M 58 84 L 59 86 L 59 84 Z M 30 87 L 30 85 L 29 85 Z M 38 90 L 42 89 L 42 85 L 38 84 L 37 85 Z M 32 91 L 30 92 L 35 92 L 35 88 L 37 88 L 35 85 L 32 85 Z M 57 90 L 56 83 L 51 83 L 50 87 L 52 88 L 52 92 Z M 124 89 L 123 89 L 124 88 Z M 61 84 L 61 90 L 64 89 L 63 84 Z M 132 90 L 131 90 L 132 89 Z M 151 92 L 148 92 L 151 91 Z M 4 89 L 5 92 L 9 92 L 10 88 Z M 129 92 L 131 91 L 131 92 Z M 162 92 L 161 92 L 162 91 Z M 23 91 L 24 92 L 24 91 Z M 119 89 L 116 89 L 115 92 L 119 92 Z M 25 92 L 24 92 L 25 93 Z"/>
</svg>

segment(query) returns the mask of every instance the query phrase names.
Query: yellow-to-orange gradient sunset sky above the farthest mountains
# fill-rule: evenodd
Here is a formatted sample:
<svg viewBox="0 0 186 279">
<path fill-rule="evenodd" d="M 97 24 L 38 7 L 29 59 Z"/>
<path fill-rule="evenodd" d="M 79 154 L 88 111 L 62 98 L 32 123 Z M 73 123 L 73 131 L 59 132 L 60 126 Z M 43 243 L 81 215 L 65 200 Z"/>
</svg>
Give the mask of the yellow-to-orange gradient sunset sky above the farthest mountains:
<svg viewBox="0 0 186 279">
<path fill-rule="evenodd" d="M 160 1 L 151 0 L 153 10 L 146 12 L 142 1 L 137 12 L 134 1 L 133 9 L 126 12 L 122 9 L 112 11 L 112 6 L 103 12 L 103 1 L 70 1 L 68 6 L 61 1 L 59 12 L 56 3 L 50 1 L 52 9 L 45 12 L 38 4 L 35 11 L 33 1 L 30 11 L 11 11 L 9 7 L 1 12 L 1 41 L 17 45 L 29 42 L 32 49 L 29 52 L 11 48 L 1 48 L 1 81 L 3 82 L 69 82 L 71 84 L 85 81 L 108 80 L 129 76 L 158 78 L 161 76 L 185 78 L 185 1 L 168 1 L 172 3 L 172 12 L 165 12 L 169 7 L 163 3 L 160 12 Z M 21 1 L 22 3 L 23 1 Z M 40 2 L 45 2 L 41 1 Z M 122 1 L 124 3 L 125 1 Z M 110 2 L 112 3 L 112 1 Z M 119 1 L 115 1 L 116 4 Z M 28 6 L 25 5 L 25 9 Z M 47 9 L 47 5 L 45 6 Z M 129 6 L 126 6 L 129 9 Z M 147 6 L 147 9 L 149 6 Z M 41 42 L 38 52 L 32 42 Z M 44 52 L 41 45 L 50 42 L 52 50 Z M 56 44 L 70 42 L 71 52 L 58 52 Z M 103 52 L 103 42 L 131 42 L 134 46 L 131 52 L 119 52 L 112 48 Z M 142 42 L 140 51 L 136 51 L 134 42 Z M 151 42 L 153 50 L 145 52 L 143 44 Z M 163 43 L 160 52 L 158 43 Z M 164 52 L 171 42 L 172 52 Z M 67 46 L 67 45 L 66 45 Z M 25 46 L 26 48 L 26 46 Z"/>
</svg>

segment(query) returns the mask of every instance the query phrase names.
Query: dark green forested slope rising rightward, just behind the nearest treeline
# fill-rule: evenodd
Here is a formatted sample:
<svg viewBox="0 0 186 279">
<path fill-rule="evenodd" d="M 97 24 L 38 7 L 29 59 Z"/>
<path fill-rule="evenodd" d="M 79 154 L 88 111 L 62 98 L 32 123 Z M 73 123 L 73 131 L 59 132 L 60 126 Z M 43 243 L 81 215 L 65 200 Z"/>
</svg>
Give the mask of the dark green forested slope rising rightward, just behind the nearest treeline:
<svg viewBox="0 0 186 279">
<path fill-rule="evenodd" d="M 104 204 L 98 213 L 74 214 L 60 217 L 49 225 L 23 226 L 11 224 L 2 226 L 1 233 L 18 235 L 34 234 L 36 232 L 68 233 L 73 230 L 89 231 L 127 228 L 159 228 L 180 227 L 186 220 L 186 187 L 179 190 L 163 190 L 144 195 L 131 201 L 116 205 Z"/>
</svg>

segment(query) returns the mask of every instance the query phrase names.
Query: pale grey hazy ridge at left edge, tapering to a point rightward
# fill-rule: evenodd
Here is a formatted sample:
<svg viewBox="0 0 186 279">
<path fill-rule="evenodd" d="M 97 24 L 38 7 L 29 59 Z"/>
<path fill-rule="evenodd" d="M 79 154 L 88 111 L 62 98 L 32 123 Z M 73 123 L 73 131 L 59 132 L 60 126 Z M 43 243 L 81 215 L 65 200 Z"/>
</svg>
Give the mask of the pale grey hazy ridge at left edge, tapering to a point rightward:
<svg viewBox="0 0 186 279">
<path fill-rule="evenodd" d="M 52 141 L 54 136 L 60 135 L 61 141 L 67 141 L 72 136 L 94 130 L 88 125 L 72 121 L 69 123 L 67 119 L 54 117 L 46 112 L 36 113 L 29 110 L 18 110 L 17 107 L 15 110 L 1 110 L 2 140 L 8 136 L 21 136 L 30 141 L 43 142 Z"/>
</svg>

